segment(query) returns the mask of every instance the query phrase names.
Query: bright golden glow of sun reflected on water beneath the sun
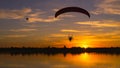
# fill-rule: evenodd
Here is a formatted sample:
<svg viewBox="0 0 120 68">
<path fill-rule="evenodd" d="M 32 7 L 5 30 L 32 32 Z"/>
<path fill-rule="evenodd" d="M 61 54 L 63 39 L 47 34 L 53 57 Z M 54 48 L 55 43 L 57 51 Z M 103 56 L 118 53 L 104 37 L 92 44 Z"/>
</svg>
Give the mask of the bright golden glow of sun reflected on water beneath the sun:
<svg viewBox="0 0 120 68">
<path fill-rule="evenodd" d="M 95 57 L 91 57 L 88 53 L 82 53 L 80 55 L 67 55 L 68 62 L 74 65 L 82 65 L 82 66 L 91 66 Z"/>
</svg>

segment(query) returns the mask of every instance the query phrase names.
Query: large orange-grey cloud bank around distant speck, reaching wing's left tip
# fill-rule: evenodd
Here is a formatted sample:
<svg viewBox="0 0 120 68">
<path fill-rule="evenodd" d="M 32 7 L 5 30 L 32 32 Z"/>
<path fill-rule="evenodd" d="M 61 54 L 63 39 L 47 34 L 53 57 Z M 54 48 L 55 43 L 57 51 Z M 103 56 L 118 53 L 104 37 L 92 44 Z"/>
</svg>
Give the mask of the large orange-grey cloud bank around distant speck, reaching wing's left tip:
<svg viewBox="0 0 120 68">
<path fill-rule="evenodd" d="M 54 18 L 53 16 L 48 16 L 48 18 L 42 18 L 43 14 L 46 12 L 38 9 L 24 8 L 19 10 L 8 10 L 0 9 L 0 19 L 22 19 L 28 17 L 28 23 L 34 22 L 54 22 L 60 20 L 59 18 Z"/>
</svg>

